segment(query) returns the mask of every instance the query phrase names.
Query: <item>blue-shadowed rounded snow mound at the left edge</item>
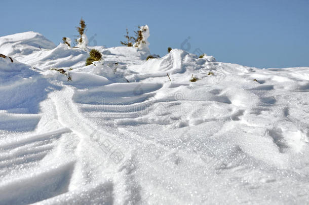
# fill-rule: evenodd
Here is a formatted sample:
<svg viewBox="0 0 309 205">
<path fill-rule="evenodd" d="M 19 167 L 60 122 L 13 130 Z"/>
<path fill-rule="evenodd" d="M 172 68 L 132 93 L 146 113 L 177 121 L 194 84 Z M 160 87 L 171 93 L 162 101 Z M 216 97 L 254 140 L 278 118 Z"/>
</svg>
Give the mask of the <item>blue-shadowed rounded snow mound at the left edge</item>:
<svg viewBox="0 0 309 205">
<path fill-rule="evenodd" d="M 55 86 L 29 65 L 13 61 L 0 58 L 0 110 L 37 113 L 39 103 Z"/>
</svg>

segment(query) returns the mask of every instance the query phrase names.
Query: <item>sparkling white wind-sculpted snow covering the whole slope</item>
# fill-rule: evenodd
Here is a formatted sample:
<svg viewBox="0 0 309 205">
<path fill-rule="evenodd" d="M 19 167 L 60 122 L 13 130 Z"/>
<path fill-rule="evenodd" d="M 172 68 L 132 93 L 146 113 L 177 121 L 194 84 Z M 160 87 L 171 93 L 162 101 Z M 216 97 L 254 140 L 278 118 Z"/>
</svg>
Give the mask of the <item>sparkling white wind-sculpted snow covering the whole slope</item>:
<svg viewBox="0 0 309 205">
<path fill-rule="evenodd" d="M 103 60 L 85 66 L 91 49 Z M 309 201 L 309 67 L 146 61 L 35 32 L 0 53 L 0 204 Z"/>
</svg>

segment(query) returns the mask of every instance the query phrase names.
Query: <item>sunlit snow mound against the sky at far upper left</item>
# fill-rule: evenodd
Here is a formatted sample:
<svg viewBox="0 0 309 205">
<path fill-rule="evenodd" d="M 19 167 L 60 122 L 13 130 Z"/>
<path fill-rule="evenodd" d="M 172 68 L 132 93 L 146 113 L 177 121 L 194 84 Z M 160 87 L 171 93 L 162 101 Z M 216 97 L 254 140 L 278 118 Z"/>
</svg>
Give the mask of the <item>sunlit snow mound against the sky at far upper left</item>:
<svg viewBox="0 0 309 205">
<path fill-rule="evenodd" d="M 17 57 L 29 55 L 41 49 L 53 49 L 53 42 L 45 38 L 42 34 L 33 31 L 16 33 L 0 37 L 0 53 Z"/>
</svg>

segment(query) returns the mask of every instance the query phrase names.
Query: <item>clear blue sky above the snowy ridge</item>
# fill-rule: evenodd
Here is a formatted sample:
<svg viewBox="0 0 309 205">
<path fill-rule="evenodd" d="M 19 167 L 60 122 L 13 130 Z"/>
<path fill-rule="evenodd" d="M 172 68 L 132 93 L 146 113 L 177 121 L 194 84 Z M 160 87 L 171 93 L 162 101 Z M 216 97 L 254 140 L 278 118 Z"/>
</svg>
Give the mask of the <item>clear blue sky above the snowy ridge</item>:
<svg viewBox="0 0 309 205">
<path fill-rule="evenodd" d="M 0 10 L 0 36 L 33 30 L 58 45 L 83 17 L 88 38 L 107 47 L 120 46 L 126 27 L 133 34 L 147 24 L 150 51 L 160 56 L 172 47 L 259 68 L 309 66 L 308 0 L 10 0 Z"/>
</svg>

